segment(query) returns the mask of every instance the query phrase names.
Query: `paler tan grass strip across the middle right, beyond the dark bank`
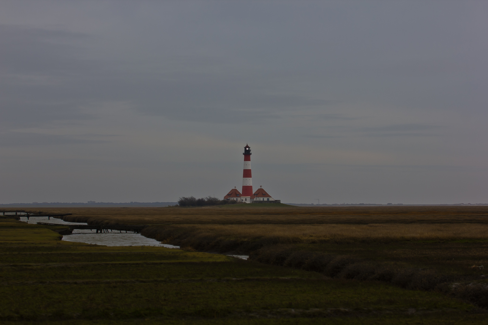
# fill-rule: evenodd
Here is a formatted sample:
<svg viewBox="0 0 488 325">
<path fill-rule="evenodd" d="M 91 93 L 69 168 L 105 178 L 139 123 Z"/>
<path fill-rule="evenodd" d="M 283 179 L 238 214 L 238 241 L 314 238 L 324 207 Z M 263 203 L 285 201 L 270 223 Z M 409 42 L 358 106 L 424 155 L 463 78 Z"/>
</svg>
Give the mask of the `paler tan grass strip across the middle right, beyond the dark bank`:
<svg viewBox="0 0 488 325">
<path fill-rule="evenodd" d="M 172 225 L 175 233 L 194 237 L 252 240 L 279 238 L 283 243 L 377 242 L 488 239 L 488 224 L 315 224 L 315 225 Z M 191 229 L 191 230 L 190 230 Z M 185 231 L 186 230 L 186 231 Z"/>
</svg>

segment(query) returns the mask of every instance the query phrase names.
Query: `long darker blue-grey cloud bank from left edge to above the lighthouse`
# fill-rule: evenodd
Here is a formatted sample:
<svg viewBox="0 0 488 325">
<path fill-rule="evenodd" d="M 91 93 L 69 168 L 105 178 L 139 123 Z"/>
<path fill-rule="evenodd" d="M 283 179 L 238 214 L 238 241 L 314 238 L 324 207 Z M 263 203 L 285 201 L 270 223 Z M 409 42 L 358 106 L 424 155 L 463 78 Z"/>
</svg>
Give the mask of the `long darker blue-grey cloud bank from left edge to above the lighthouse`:
<svg viewBox="0 0 488 325">
<path fill-rule="evenodd" d="M 97 101 L 127 101 L 142 114 L 214 123 L 274 119 L 281 111 L 329 103 L 273 91 L 270 85 L 278 76 L 272 73 L 229 76 L 222 72 L 228 62 L 212 57 L 173 55 L 167 71 L 141 74 L 118 60 L 82 59 L 80 44 L 86 46 L 92 37 L 81 33 L 0 25 L 0 39 L 1 67 L 7 72 L 0 81 L 0 105 L 3 121 L 10 124 L 17 124 L 19 116 L 26 124 L 90 119 L 79 108 Z"/>
</svg>

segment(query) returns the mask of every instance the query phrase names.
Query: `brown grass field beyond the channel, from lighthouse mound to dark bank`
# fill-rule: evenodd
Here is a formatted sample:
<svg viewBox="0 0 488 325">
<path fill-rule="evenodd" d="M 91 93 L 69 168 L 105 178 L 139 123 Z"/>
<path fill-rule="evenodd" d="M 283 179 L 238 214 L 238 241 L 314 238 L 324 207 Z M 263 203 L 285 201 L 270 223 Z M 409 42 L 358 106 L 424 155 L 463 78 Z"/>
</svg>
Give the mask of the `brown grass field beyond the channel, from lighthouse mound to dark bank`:
<svg viewBox="0 0 488 325">
<path fill-rule="evenodd" d="M 258 258 L 266 249 L 288 245 L 289 254 L 306 250 L 347 255 L 405 268 L 432 268 L 444 274 L 479 276 L 483 270 L 469 267 L 488 268 L 488 207 L 484 206 L 243 204 L 50 212 L 72 212 L 73 215 L 64 217 L 66 221 L 89 224 L 147 224 L 143 235 L 189 250 L 250 254 Z"/>
</svg>

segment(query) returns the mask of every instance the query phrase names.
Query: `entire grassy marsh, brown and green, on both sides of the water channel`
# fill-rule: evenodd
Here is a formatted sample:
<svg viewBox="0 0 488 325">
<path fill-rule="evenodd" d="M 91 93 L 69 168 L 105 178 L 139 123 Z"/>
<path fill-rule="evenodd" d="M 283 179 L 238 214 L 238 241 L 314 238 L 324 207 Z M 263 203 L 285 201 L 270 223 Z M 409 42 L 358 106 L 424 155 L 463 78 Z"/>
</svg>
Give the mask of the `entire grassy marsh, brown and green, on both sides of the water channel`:
<svg viewBox="0 0 488 325">
<path fill-rule="evenodd" d="M 429 290 L 440 284 L 444 278 L 435 272 L 411 266 L 437 263 L 445 271 L 453 252 L 464 258 L 456 261 L 462 271 L 455 274 L 465 277 L 464 264 L 472 262 L 466 261 L 466 245 L 472 243 L 453 247 L 443 241 L 483 241 L 486 211 L 443 216 L 431 210 L 314 209 L 102 208 L 73 209 L 68 212 L 76 214 L 66 217 L 148 224 L 145 235 L 186 242 L 192 251 L 65 242 L 56 229 L 0 222 L 0 322 L 484 324 L 469 301 L 483 302 L 473 299 L 468 286 L 459 286 L 464 302 L 449 297 L 449 291 L 403 287 Z M 429 244 L 432 239 L 438 242 Z M 473 243 L 477 251 L 469 258 L 486 256 L 484 242 Z M 195 251 L 236 247 L 252 252 L 253 260 Z M 371 276 L 375 281 L 363 281 Z M 410 315 L 412 310 L 420 315 Z"/>
</svg>

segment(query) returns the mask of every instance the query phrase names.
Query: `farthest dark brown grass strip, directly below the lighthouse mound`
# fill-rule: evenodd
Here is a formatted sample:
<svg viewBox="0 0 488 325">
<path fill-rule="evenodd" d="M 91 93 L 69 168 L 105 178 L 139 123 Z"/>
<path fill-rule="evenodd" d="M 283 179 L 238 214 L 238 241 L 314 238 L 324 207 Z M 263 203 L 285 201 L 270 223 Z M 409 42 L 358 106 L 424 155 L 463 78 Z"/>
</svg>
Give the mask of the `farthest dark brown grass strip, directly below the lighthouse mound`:
<svg viewBox="0 0 488 325">
<path fill-rule="evenodd" d="M 221 207 L 55 208 L 73 213 L 66 220 L 118 224 L 381 224 L 486 223 L 485 206 L 294 207 L 238 204 Z"/>
</svg>

